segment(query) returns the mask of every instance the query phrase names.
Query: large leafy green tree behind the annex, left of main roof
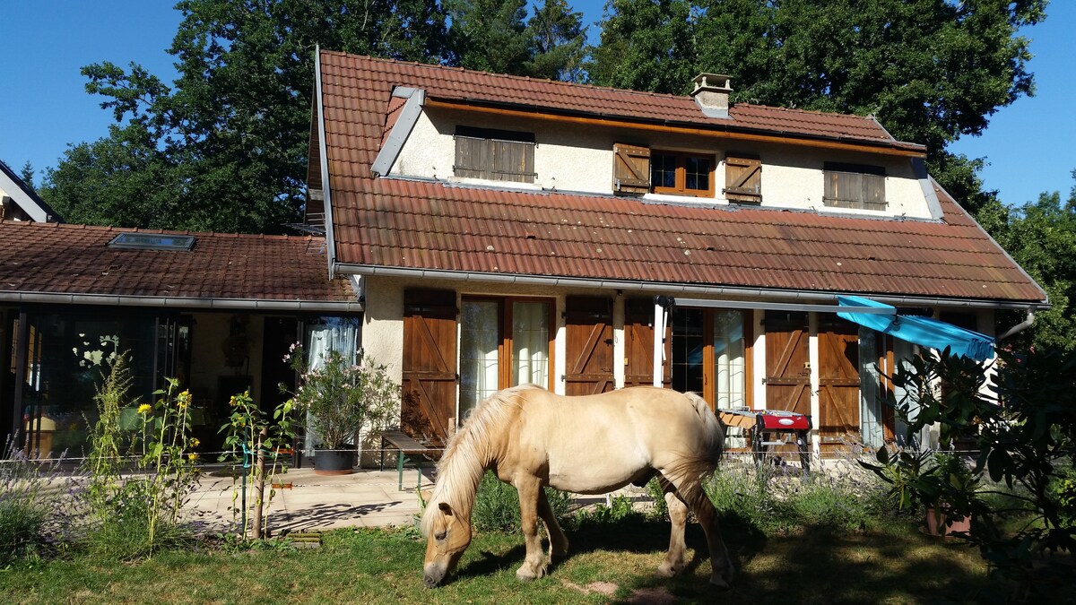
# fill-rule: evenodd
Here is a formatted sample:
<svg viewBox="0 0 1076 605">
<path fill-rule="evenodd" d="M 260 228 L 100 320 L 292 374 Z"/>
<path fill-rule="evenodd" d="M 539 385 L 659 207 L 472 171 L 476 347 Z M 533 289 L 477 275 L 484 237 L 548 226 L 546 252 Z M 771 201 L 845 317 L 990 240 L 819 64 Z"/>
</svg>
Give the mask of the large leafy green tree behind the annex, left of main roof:
<svg viewBox="0 0 1076 605">
<path fill-rule="evenodd" d="M 83 69 L 117 125 L 68 150 L 43 197 L 70 221 L 278 233 L 299 217 L 316 45 L 439 61 L 435 0 L 184 0 L 172 85 Z"/>
</svg>

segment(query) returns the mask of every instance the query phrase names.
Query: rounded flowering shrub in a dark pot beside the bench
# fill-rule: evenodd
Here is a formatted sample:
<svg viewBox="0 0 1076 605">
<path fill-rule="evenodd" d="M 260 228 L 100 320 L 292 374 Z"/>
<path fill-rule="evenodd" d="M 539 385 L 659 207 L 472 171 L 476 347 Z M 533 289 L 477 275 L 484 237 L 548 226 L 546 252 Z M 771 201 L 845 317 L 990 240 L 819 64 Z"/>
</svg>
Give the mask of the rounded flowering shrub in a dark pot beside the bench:
<svg viewBox="0 0 1076 605">
<path fill-rule="evenodd" d="M 314 472 L 352 473 L 358 433 L 382 430 L 395 418 L 400 386 L 388 378 L 384 365 L 362 352 L 354 363 L 329 351 L 311 364 L 302 347 L 295 344 L 285 360 L 299 374 L 292 399 L 297 422 L 315 436 Z"/>
</svg>

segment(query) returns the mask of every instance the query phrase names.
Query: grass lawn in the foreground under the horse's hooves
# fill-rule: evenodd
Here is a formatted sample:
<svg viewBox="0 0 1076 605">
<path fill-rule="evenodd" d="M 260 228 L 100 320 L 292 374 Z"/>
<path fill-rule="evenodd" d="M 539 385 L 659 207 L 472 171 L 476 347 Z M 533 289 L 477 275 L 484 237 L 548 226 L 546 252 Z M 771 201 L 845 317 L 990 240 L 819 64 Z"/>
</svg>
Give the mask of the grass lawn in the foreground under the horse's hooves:
<svg viewBox="0 0 1076 605">
<path fill-rule="evenodd" d="M 654 569 L 668 524 L 635 520 L 569 531 L 571 554 L 530 583 L 515 579 L 524 554 L 519 534 L 477 535 L 455 579 L 428 590 L 421 576 L 425 544 L 413 531 L 341 530 L 309 550 L 202 549 L 139 563 L 76 557 L 18 566 L 0 572 L 0 602 L 832 605 L 962 603 L 983 600 L 991 586 L 976 551 L 903 525 L 868 534 L 765 537 L 737 527 L 725 534 L 738 567 L 728 591 L 707 583 L 710 564 L 697 525 L 689 526 L 688 545 L 703 552 L 692 550 L 688 573 L 667 580 Z"/>
</svg>

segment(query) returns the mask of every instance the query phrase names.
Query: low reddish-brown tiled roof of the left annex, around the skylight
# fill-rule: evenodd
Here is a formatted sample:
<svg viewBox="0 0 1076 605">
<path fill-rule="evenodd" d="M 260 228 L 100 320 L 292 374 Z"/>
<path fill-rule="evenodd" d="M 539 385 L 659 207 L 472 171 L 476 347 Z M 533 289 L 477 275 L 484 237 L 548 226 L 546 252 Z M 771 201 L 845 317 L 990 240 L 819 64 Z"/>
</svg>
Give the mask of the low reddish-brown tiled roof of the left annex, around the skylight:
<svg viewBox="0 0 1076 605">
<path fill-rule="evenodd" d="M 194 235 L 190 251 L 123 250 L 119 233 Z M 197 299 L 354 301 L 328 279 L 320 237 L 249 236 L 0 222 L 0 298 L 47 293 Z"/>
</svg>

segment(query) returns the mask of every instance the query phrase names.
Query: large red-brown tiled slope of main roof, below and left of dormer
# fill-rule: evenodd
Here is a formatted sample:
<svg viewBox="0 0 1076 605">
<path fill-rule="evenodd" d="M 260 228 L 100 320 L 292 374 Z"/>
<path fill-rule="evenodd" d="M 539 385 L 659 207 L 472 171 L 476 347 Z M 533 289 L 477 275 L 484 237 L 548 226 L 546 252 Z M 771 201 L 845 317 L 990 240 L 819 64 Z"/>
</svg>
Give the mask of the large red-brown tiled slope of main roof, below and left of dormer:
<svg viewBox="0 0 1076 605">
<path fill-rule="evenodd" d="M 458 79 L 467 90 L 461 95 L 475 96 L 491 79 L 518 86 L 527 81 L 338 54 L 324 54 L 322 67 L 334 230 L 343 264 L 1007 302 L 1045 298 L 944 192 L 942 221 L 883 221 L 372 179 L 369 165 L 393 86 L 449 89 Z M 623 95 L 580 89 L 585 94 L 570 98 Z M 781 110 L 766 115 L 774 114 Z"/>
</svg>

